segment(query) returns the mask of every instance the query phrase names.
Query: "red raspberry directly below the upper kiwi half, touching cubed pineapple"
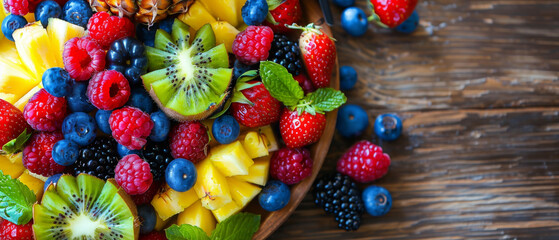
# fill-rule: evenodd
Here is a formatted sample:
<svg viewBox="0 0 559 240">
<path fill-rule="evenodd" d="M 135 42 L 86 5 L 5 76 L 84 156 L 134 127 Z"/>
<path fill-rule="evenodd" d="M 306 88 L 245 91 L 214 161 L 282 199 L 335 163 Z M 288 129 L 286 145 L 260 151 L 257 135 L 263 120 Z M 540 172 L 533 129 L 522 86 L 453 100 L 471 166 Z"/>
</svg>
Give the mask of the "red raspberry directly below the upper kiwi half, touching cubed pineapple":
<svg viewBox="0 0 559 240">
<path fill-rule="evenodd" d="M 171 154 L 197 163 L 208 156 L 210 138 L 204 124 L 184 122 L 173 128 L 170 134 Z"/>
</svg>

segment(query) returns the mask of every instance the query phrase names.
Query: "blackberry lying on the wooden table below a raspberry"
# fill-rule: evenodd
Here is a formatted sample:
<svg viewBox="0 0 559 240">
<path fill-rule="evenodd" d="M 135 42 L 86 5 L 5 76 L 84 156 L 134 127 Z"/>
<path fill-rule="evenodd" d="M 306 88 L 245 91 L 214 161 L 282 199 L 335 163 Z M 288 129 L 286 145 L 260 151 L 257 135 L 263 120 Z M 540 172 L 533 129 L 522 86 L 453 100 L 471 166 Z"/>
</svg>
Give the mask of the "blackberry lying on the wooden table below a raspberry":
<svg viewBox="0 0 559 240">
<path fill-rule="evenodd" d="M 357 230 L 365 205 L 355 182 L 341 173 L 326 174 L 318 179 L 312 191 L 314 203 L 335 216 L 338 227 Z"/>
</svg>

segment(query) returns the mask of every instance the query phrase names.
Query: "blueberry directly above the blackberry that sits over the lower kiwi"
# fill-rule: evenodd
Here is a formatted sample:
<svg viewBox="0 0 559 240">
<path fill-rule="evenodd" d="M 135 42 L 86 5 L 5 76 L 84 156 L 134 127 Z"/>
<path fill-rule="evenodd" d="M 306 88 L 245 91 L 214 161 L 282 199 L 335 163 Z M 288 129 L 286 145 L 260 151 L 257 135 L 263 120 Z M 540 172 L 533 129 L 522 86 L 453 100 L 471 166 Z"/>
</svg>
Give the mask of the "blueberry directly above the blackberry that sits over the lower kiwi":
<svg viewBox="0 0 559 240">
<path fill-rule="evenodd" d="M 75 112 L 68 115 L 62 122 L 64 138 L 80 146 L 86 146 L 95 140 L 95 120 L 84 112 Z"/>
</svg>

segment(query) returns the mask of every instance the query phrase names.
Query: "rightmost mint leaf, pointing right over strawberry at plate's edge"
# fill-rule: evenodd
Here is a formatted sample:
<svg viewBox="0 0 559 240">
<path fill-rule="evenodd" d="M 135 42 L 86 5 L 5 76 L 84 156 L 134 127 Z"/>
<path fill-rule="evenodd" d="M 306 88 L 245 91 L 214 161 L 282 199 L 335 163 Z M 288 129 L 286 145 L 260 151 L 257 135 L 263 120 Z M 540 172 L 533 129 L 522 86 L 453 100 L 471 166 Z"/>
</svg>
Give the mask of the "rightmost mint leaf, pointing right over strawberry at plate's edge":
<svg viewBox="0 0 559 240">
<path fill-rule="evenodd" d="M 342 106 L 346 101 L 346 96 L 333 88 L 319 88 L 316 91 L 309 93 L 303 101 L 310 101 L 311 106 L 317 112 L 324 113 L 330 112 Z"/>
</svg>

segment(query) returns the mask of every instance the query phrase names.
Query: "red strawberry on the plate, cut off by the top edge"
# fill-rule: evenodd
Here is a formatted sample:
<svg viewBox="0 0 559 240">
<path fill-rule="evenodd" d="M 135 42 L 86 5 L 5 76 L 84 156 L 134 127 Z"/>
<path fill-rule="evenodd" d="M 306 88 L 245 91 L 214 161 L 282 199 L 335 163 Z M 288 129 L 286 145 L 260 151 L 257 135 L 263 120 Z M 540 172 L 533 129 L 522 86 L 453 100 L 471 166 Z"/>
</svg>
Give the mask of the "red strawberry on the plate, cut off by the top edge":
<svg viewBox="0 0 559 240">
<path fill-rule="evenodd" d="M 279 4 L 279 5 L 278 5 Z M 271 27 L 275 33 L 287 33 L 291 31 L 285 25 L 291 25 L 301 20 L 303 11 L 299 0 L 268 0 L 270 12 L 264 25 Z"/>
</svg>

